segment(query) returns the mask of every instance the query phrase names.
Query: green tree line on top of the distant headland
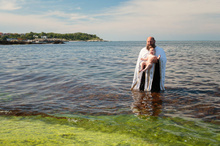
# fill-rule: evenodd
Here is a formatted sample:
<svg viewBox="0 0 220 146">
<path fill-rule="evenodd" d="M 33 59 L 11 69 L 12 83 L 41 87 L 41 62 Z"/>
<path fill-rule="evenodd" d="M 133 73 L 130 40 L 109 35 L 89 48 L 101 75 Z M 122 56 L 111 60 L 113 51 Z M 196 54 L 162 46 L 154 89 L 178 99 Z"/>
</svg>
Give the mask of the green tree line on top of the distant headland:
<svg viewBox="0 0 220 146">
<path fill-rule="evenodd" d="M 46 36 L 48 39 L 50 38 L 56 38 L 56 39 L 65 39 L 68 41 L 87 41 L 87 40 L 102 40 L 98 36 L 94 34 L 87 34 L 87 33 L 66 33 L 66 34 L 60 34 L 60 33 L 25 33 L 25 34 L 18 34 L 18 33 L 11 33 L 3 35 L 0 40 L 7 40 L 8 38 L 14 38 L 14 39 L 20 39 L 20 40 L 33 40 L 33 39 L 39 39 L 42 38 L 42 36 Z"/>
</svg>

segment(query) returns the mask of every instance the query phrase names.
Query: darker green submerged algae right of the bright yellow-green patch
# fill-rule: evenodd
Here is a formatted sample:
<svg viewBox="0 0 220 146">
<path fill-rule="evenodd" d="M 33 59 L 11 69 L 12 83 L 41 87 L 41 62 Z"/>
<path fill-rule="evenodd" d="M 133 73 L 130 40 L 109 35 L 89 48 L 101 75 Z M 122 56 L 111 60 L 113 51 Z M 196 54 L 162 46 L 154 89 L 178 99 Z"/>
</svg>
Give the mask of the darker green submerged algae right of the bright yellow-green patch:
<svg viewBox="0 0 220 146">
<path fill-rule="evenodd" d="M 141 118 L 141 119 L 140 119 Z M 74 123 L 88 130 L 115 131 L 162 145 L 218 145 L 218 126 L 181 118 L 140 117 L 133 115 L 103 116 Z M 90 121 L 90 122 L 89 122 Z"/>
</svg>

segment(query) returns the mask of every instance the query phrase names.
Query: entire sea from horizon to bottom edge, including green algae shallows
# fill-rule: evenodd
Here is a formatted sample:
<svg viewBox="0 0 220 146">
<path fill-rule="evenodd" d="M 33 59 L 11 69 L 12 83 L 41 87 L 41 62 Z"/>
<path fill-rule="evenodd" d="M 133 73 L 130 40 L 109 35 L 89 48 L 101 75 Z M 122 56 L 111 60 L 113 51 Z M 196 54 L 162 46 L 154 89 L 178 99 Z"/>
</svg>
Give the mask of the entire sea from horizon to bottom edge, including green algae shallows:
<svg viewBox="0 0 220 146">
<path fill-rule="evenodd" d="M 154 93 L 130 90 L 145 45 L 0 45 L 0 145 L 219 145 L 220 41 L 157 41 L 166 90 Z"/>
</svg>

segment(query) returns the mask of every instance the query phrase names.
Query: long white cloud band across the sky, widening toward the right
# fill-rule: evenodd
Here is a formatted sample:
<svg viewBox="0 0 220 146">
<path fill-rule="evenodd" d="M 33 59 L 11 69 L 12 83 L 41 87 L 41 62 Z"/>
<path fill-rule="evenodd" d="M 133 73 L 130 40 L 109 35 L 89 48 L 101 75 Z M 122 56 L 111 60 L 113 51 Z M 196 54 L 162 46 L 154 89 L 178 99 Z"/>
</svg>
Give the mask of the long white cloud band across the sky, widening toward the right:
<svg viewBox="0 0 220 146">
<path fill-rule="evenodd" d="M 31 31 L 87 32 L 108 40 L 220 39 L 219 0 L 130 0 L 98 14 L 49 11 L 42 15 L 0 14 L 4 24 Z M 62 19 L 60 19 L 60 18 Z M 4 30 L 1 28 L 0 29 Z M 200 38 L 199 38 L 200 37 Z M 215 38 L 214 38 L 215 37 Z"/>
</svg>

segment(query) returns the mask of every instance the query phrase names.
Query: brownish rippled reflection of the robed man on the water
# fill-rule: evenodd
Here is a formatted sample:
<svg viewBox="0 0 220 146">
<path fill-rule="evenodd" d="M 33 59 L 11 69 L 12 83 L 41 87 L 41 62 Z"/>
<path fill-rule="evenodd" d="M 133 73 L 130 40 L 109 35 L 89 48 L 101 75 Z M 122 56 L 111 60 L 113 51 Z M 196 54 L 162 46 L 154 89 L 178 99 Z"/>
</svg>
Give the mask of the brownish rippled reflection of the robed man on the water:
<svg viewBox="0 0 220 146">
<path fill-rule="evenodd" d="M 161 93 L 132 92 L 134 102 L 131 109 L 138 116 L 159 116 L 162 110 Z"/>
</svg>

